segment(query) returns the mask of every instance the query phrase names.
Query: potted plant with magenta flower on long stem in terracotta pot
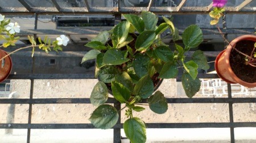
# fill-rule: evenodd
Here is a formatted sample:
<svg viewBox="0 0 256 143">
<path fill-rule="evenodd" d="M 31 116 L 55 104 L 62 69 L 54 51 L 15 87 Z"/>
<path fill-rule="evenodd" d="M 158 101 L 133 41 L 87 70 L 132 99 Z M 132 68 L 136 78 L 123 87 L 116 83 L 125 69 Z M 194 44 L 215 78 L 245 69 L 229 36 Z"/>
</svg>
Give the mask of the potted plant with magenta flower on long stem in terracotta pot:
<svg viewBox="0 0 256 143">
<path fill-rule="evenodd" d="M 213 1 L 214 9 L 209 12 L 210 17 L 213 18 L 210 24 L 217 26 L 222 37 L 229 44 L 216 58 L 216 72 L 227 83 L 256 87 L 256 36 L 243 35 L 229 43 L 218 27 L 218 20 L 224 15 L 226 2 L 226 0 Z"/>
</svg>

